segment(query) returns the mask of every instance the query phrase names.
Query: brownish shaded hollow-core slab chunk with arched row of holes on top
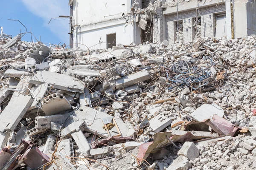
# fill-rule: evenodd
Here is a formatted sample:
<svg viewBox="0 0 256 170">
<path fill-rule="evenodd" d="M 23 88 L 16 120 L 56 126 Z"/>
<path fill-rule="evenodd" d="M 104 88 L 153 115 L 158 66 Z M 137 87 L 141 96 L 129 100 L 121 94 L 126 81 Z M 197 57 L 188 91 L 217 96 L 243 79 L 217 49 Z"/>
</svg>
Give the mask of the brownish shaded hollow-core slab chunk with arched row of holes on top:
<svg viewBox="0 0 256 170">
<path fill-rule="evenodd" d="M 41 109 L 47 116 L 49 116 L 63 111 L 69 111 L 72 109 L 72 106 L 65 96 L 55 93 L 47 96 L 47 98 L 42 101 Z"/>
</svg>

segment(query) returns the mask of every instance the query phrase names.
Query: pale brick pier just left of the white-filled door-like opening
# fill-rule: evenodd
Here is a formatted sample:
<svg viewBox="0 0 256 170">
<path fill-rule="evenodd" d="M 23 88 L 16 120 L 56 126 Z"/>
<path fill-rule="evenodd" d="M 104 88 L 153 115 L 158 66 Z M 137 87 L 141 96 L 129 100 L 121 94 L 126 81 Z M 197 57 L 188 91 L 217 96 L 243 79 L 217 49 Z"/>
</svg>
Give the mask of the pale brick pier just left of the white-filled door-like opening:
<svg viewBox="0 0 256 170">
<path fill-rule="evenodd" d="M 202 37 L 215 37 L 215 14 L 206 14 L 201 16 Z"/>
</svg>

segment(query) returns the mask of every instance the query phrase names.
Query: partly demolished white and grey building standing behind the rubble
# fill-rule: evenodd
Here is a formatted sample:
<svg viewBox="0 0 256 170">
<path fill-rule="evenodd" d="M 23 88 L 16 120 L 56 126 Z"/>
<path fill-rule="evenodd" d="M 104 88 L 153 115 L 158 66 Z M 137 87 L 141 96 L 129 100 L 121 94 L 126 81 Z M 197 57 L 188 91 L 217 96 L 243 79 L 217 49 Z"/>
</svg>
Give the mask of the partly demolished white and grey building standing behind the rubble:
<svg viewBox="0 0 256 170">
<path fill-rule="evenodd" d="M 254 0 L 70 0 L 69 5 L 70 44 L 84 50 L 256 34 Z"/>
</svg>

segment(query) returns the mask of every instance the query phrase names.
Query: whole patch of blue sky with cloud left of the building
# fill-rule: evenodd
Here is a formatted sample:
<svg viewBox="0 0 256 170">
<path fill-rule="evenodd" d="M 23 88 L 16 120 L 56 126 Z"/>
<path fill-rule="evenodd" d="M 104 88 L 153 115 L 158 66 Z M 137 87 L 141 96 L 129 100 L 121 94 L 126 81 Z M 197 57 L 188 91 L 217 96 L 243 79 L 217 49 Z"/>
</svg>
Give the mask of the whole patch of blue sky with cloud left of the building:
<svg viewBox="0 0 256 170">
<path fill-rule="evenodd" d="M 0 6 L 0 26 L 5 34 L 14 37 L 20 33 L 20 29 L 25 33 L 25 28 L 18 21 L 7 19 L 20 20 L 27 32 L 32 28 L 32 34 L 38 40 L 41 36 L 41 41 L 46 44 L 61 42 L 69 45 L 68 19 L 57 18 L 49 23 L 52 17 L 70 14 L 68 0 L 1 0 Z M 36 42 L 35 37 L 32 36 L 32 40 Z M 30 34 L 26 34 L 22 40 L 31 41 Z"/>
</svg>

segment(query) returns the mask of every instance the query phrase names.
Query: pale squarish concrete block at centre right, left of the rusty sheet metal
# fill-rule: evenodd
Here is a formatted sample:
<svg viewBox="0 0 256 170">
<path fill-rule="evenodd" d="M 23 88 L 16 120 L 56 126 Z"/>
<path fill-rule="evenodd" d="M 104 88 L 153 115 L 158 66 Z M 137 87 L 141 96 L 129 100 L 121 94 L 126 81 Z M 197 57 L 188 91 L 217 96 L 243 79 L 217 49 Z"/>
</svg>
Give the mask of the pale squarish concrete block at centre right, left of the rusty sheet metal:
<svg viewBox="0 0 256 170">
<path fill-rule="evenodd" d="M 157 115 L 149 121 L 149 126 L 155 133 L 157 133 L 171 125 L 171 123 L 172 120 L 168 117 Z"/>
</svg>

